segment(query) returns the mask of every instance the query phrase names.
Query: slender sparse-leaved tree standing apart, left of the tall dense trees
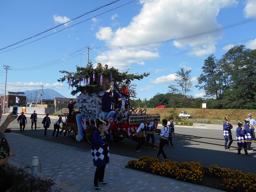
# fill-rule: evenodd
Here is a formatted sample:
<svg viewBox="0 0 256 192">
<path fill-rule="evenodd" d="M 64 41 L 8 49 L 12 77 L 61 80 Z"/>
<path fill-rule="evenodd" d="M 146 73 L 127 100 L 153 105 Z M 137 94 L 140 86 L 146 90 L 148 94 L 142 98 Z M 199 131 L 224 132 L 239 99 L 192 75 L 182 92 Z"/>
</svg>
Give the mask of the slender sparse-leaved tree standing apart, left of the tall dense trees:
<svg viewBox="0 0 256 192">
<path fill-rule="evenodd" d="M 185 108 L 185 100 L 186 100 L 186 94 L 188 92 L 191 92 L 191 87 L 193 86 L 193 84 L 191 83 L 191 70 L 189 71 L 185 71 L 184 68 L 180 68 L 180 71 L 176 71 L 175 76 L 177 77 L 177 79 L 174 79 L 175 81 L 177 81 L 178 85 L 169 85 L 168 87 L 171 88 L 171 90 L 169 90 L 170 92 L 173 93 L 179 93 L 180 95 L 182 95 L 182 101 L 183 101 L 183 107 Z"/>
</svg>

